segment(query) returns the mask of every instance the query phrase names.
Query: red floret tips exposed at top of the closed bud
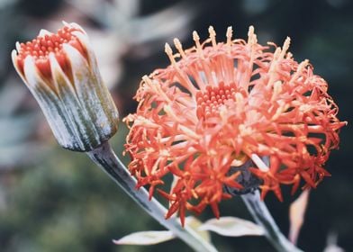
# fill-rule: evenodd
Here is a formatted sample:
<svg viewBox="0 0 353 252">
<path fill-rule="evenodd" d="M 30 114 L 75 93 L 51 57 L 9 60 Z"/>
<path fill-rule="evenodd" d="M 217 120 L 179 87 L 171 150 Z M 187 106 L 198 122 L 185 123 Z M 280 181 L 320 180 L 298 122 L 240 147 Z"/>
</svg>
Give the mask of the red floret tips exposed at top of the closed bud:
<svg viewBox="0 0 353 252">
<path fill-rule="evenodd" d="M 79 31 L 77 28 L 64 26 L 59 29 L 58 32 L 48 33 L 40 35 L 32 41 L 20 44 L 18 51 L 17 62 L 20 69 L 23 70 L 23 61 L 27 56 L 34 58 L 36 66 L 40 69 L 43 76 L 50 76 L 50 52 L 55 54 L 60 67 L 63 70 L 69 67 L 68 60 L 66 60 L 65 53 L 62 49 L 62 45 L 67 43 L 72 47 L 76 48 L 80 53 L 85 55 L 84 49 L 77 37 L 72 34 L 73 31 Z"/>
</svg>

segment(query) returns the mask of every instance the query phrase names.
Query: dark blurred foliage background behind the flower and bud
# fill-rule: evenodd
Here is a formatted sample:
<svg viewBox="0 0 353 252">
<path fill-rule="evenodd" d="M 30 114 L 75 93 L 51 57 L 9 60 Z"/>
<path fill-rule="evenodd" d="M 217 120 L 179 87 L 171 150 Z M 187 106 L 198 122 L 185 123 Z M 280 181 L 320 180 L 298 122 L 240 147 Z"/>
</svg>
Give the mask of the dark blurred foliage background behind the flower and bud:
<svg viewBox="0 0 353 252">
<path fill-rule="evenodd" d="M 92 41 L 104 80 L 122 116 L 133 112 L 140 77 L 166 67 L 164 43 L 178 37 L 185 48 L 191 32 L 218 40 L 232 25 L 246 38 L 253 24 L 260 43 L 281 45 L 288 35 L 298 61 L 309 58 L 315 73 L 330 84 L 339 104 L 340 149 L 327 163 L 331 177 L 310 195 L 298 246 L 323 251 L 330 234 L 353 251 L 353 3 L 349 0 L 0 0 L 0 251 L 189 251 L 179 240 L 149 247 L 116 246 L 113 238 L 162 229 L 140 210 L 86 155 L 59 148 L 47 122 L 14 72 L 10 52 L 16 40 L 32 40 L 41 28 L 57 31 L 61 21 L 83 26 Z M 113 138 L 122 157 L 126 127 Z M 128 159 L 123 157 L 127 164 Z M 288 207 L 270 194 L 266 202 L 288 232 Z M 249 219 L 240 199 L 222 202 L 223 216 Z M 213 218 L 210 210 L 199 216 Z M 265 238 L 224 238 L 213 234 L 220 251 L 274 251 Z"/>
</svg>

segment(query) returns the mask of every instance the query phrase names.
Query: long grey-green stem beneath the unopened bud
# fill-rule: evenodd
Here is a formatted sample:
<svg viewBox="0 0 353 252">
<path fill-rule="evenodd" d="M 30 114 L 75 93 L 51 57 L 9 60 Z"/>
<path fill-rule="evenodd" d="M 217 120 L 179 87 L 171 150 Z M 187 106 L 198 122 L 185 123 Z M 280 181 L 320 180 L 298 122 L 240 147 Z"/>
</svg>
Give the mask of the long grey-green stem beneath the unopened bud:
<svg viewBox="0 0 353 252">
<path fill-rule="evenodd" d="M 122 164 L 122 161 L 116 157 L 110 144 L 106 141 L 103 145 L 94 150 L 87 152 L 87 155 L 110 177 L 119 184 L 125 193 L 137 202 L 140 207 L 149 213 L 155 220 L 171 230 L 178 238 L 181 238 L 187 245 L 193 247 L 199 252 L 216 252 L 217 249 L 210 243 L 201 238 L 193 229 L 183 228 L 176 218 L 165 219 L 167 209 L 160 204 L 155 198 L 149 201 L 149 193 L 145 188 L 141 187 L 136 190 L 136 179 L 130 175 L 130 172 Z"/>
</svg>

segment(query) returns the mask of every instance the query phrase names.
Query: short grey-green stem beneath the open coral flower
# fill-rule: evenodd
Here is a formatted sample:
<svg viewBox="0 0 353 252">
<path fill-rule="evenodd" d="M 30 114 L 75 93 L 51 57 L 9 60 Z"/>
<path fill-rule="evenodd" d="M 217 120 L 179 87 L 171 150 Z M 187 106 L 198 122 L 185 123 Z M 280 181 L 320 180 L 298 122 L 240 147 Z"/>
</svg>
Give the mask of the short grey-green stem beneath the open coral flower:
<svg viewBox="0 0 353 252">
<path fill-rule="evenodd" d="M 276 247 L 277 251 L 303 252 L 303 250 L 295 247 L 294 244 L 281 233 L 271 213 L 268 211 L 265 202 L 260 199 L 258 190 L 243 194 L 241 198 L 248 207 L 252 217 L 265 229 L 265 236 L 269 242 Z"/>
</svg>

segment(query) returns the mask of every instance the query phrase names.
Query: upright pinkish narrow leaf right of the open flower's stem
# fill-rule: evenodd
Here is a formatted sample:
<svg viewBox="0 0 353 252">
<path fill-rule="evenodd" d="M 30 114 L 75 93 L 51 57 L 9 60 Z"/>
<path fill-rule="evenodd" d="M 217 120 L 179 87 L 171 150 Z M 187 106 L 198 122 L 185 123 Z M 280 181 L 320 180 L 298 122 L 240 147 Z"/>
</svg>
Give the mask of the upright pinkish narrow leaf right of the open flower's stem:
<svg viewBox="0 0 353 252">
<path fill-rule="evenodd" d="M 309 200 L 309 192 L 309 190 L 304 190 L 289 207 L 289 240 L 294 245 L 298 239 L 300 229 L 303 226 L 304 215 Z"/>
</svg>

